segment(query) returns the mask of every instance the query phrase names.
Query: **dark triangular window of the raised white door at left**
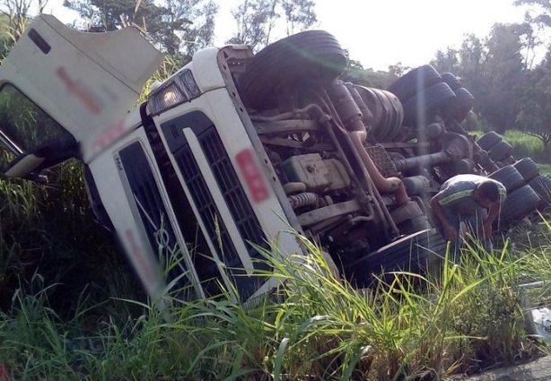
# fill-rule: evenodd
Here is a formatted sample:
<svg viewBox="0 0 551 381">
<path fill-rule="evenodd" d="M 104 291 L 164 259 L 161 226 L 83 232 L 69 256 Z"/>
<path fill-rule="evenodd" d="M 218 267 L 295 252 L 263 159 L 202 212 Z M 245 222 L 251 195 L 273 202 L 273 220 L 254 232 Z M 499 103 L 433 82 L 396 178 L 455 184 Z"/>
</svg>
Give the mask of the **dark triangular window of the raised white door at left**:
<svg viewBox="0 0 551 381">
<path fill-rule="evenodd" d="M 74 137 L 21 91 L 5 84 L 0 89 L 0 143 L 5 149 L 0 164 L 53 142 L 70 144 Z"/>
</svg>

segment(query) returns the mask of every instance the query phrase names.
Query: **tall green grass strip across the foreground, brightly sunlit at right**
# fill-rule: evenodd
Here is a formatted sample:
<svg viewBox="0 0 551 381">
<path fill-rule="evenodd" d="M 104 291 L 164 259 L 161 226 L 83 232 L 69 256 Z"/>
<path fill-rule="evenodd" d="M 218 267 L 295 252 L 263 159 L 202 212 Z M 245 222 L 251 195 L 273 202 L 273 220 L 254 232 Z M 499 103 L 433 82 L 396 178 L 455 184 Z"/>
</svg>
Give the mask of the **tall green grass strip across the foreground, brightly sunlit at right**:
<svg viewBox="0 0 551 381">
<path fill-rule="evenodd" d="M 519 284 L 551 278 L 548 247 L 524 255 L 507 244 L 494 255 L 468 247 L 437 276 L 394 273 L 356 290 L 303 243 L 311 255 L 264 253 L 282 282 L 255 307 L 179 300 L 170 323 L 138 301 L 126 302 L 140 307 L 137 317 L 114 311 L 91 321 L 102 306 L 86 302 L 85 292 L 62 319 L 48 301 L 59 286 L 35 276 L 0 315 L 0 362 L 22 379 L 398 380 L 538 352 L 524 332 Z"/>
</svg>

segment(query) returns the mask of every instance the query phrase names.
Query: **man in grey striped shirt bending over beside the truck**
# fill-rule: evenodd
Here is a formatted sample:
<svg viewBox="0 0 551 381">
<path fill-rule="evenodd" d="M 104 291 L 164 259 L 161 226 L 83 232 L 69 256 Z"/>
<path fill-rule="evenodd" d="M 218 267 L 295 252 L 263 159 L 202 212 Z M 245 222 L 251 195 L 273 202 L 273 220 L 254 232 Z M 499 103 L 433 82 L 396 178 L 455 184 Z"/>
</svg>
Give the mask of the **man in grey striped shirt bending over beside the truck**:
<svg viewBox="0 0 551 381">
<path fill-rule="evenodd" d="M 431 199 L 431 206 L 442 234 L 455 243 L 456 253 L 461 221 L 486 250 L 491 250 L 492 224 L 506 195 L 502 183 L 483 176 L 458 175 L 442 184 L 440 192 Z"/>
</svg>

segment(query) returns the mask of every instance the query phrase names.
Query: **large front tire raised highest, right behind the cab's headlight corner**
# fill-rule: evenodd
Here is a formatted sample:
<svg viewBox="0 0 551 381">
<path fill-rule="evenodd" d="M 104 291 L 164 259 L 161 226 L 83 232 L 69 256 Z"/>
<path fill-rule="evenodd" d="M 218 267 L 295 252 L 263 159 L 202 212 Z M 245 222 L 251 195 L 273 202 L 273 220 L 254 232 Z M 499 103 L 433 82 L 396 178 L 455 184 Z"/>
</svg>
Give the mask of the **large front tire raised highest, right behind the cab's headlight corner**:
<svg viewBox="0 0 551 381">
<path fill-rule="evenodd" d="M 260 50 L 239 79 L 241 98 L 250 108 L 277 106 L 282 89 L 305 82 L 326 84 L 337 78 L 346 56 L 337 39 L 324 30 L 306 30 Z"/>
</svg>

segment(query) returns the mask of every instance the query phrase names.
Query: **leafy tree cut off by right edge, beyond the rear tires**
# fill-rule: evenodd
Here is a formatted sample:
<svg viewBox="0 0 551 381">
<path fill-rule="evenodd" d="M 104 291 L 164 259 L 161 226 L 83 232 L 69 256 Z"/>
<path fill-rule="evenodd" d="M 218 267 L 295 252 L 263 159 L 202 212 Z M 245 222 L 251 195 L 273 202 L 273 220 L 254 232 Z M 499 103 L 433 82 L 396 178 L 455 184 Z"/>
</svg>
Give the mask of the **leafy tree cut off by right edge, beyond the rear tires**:
<svg viewBox="0 0 551 381">
<path fill-rule="evenodd" d="M 526 75 L 520 96 L 517 127 L 538 137 L 547 148 L 551 143 L 551 47 L 547 56 Z"/>
</svg>

